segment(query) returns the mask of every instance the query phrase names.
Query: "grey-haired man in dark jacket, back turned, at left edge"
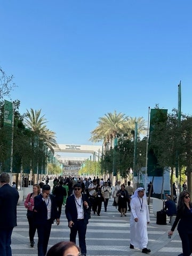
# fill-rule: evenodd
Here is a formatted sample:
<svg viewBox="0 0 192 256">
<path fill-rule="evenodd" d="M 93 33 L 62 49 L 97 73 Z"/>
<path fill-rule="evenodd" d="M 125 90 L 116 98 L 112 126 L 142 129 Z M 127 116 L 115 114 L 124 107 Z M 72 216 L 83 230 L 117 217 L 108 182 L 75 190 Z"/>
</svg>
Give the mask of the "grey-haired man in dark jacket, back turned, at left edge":
<svg viewBox="0 0 192 256">
<path fill-rule="evenodd" d="M 17 226 L 18 190 L 9 185 L 10 175 L 0 175 L 0 255 L 11 256 L 11 234 Z"/>
</svg>

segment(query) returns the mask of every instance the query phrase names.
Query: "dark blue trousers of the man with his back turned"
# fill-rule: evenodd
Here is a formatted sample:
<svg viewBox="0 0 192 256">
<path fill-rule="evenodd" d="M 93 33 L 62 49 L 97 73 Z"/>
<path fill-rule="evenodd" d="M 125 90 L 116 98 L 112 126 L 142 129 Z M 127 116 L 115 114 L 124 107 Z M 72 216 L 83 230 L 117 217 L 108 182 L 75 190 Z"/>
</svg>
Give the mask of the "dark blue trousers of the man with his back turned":
<svg viewBox="0 0 192 256">
<path fill-rule="evenodd" d="M 12 228 L 1 228 L 0 227 L 0 255 L 11 256 L 11 234 Z"/>
</svg>

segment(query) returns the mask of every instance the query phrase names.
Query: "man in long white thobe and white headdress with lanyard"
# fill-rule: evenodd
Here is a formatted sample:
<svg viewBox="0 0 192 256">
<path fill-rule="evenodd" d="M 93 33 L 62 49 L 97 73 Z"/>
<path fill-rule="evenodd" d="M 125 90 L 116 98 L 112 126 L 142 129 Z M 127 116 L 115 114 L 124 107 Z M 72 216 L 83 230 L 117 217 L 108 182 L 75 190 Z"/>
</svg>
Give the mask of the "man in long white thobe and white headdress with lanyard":
<svg viewBox="0 0 192 256">
<path fill-rule="evenodd" d="M 149 253 L 147 249 L 148 234 L 147 224 L 149 223 L 149 209 L 144 188 L 135 190 L 131 196 L 131 218 L 130 218 L 130 249 L 137 247 L 142 249 L 143 253 Z"/>
</svg>

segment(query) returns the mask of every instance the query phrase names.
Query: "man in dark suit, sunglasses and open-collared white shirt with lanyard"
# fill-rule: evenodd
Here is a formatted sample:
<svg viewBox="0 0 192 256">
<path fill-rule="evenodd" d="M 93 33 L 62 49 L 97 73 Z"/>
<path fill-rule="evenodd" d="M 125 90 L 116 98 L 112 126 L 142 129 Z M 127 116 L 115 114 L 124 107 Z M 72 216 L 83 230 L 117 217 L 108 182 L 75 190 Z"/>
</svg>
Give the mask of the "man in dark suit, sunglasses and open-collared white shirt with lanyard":
<svg viewBox="0 0 192 256">
<path fill-rule="evenodd" d="M 76 243 L 76 235 L 78 231 L 79 247 L 82 255 L 86 256 L 86 227 L 89 222 L 90 208 L 89 199 L 85 194 L 82 194 L 80 183 L 74 185 L 74 195 L 67 197 L 66 202 L 66 217 L 70 228 L 70 241 Z"/>
</svg>

